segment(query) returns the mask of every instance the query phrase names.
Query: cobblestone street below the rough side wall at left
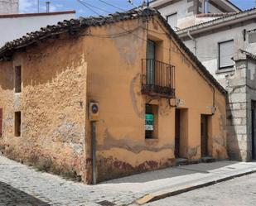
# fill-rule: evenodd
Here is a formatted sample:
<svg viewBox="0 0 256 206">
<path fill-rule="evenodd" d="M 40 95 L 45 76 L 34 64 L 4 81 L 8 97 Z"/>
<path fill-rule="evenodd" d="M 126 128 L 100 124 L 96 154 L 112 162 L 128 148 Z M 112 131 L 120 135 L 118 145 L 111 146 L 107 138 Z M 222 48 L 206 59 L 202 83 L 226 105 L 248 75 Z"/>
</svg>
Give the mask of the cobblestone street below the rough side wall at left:
<svg viewBox="0 0 256 206">
<path fill-rule="evenodd" d="M 127 205 L 142 196 L 102 184 L 91 186 L 36 171 L 0 156 L 0 205 Z"/>
</svg>

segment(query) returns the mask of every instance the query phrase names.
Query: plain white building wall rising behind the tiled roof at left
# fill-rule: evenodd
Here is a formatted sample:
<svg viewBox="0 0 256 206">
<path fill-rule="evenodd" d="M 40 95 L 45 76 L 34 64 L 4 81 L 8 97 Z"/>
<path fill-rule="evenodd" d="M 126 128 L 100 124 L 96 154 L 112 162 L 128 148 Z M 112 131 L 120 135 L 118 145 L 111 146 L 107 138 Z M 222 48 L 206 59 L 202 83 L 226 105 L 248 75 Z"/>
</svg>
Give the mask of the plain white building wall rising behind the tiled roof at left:
<svg viewBox="0 0 256 206">
<path fill-rule="evenodd" d="M 3 46 L 7 41 L 26 35 L 27 32 L 37 31 L 41 27 L 71 18 L 75 18 L 75 11 L 20 14 L 2 14 L 0 12 L 0 27 L 2 28 L 0 30 L 0 46 Z"/>
</svg>

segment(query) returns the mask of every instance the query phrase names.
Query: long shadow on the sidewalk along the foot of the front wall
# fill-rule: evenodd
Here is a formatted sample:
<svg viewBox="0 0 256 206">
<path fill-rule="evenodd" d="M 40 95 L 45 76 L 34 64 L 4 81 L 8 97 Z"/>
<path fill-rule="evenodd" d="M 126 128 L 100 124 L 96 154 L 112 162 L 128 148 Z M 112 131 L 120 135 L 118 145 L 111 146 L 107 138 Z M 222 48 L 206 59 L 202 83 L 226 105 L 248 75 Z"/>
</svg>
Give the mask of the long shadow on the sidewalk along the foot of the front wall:
<svg viewBox="0 0 256 206">
<path fill-rule="evenodd" d="M 207 174 L 210 173 L 210 170 L 221 169 L 222 167 L 229 166 L 232 170 L 233 164 L 237 163 L 237 161 L 216 161 L 213 163 L 200 163 L 200 164 L 192 164 L 192 165 L 182 165 L 182 166 L 174 166 L 169 167 L 162 170 L 154 170 L 145 173 L 141 173 L 138 175 L 131 175 L 115 180 L 105 181 L 102 184 L 120 184 L 120 183 L 146 183 L 154 180 L 162 180 L 167 178 L 173 178 L 177 176 L 183 175 L 192 175 L 195 173 Z"/>
</svg>

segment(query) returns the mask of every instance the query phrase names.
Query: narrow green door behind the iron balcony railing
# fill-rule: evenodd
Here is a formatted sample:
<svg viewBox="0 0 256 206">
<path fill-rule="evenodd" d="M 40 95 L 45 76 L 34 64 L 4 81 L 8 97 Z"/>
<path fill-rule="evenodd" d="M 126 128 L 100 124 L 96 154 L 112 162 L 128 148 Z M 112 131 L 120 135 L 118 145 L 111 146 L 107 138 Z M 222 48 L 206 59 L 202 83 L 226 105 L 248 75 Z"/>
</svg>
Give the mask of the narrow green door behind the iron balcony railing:
<svg viewBox="0 0 256 206">
<path fill-rule="evenodd" d="M 155 60 L 156 60 L 156 43 L 147 40 L 147 84 L 155 82 Z"/>
</svg>

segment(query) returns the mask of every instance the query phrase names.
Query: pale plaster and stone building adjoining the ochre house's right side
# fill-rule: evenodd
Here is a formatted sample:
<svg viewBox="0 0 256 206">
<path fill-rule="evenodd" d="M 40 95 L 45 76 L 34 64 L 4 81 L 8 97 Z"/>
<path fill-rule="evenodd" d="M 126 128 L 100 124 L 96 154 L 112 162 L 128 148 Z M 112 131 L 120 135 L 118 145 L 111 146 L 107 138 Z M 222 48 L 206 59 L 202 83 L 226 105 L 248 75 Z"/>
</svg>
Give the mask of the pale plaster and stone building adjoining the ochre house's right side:
<svg viewBox="0 0 256 206">
<path fill-rule="evenodd" d="M 181 2 L 187 7 L 191 2 L 200 5 L 196 4 L 200 1 L 167 1 L 170 6 L 161 2 L 155 3 L 164 14 L 173 12 L 173 9 L 182 11 L 184 7 L 180 5 Z M 210 10 L 213 6 L 222 7 L 224 2 L 229 8 Z M 229 1 L 205 3 L 202 5 L 208 5 L 208 12 L 187 13 L 196 21 L 181 26 L 176 33 L 229 93 L 229 157 L 244 161 L 256 159 L 256 9 L 242 12 Z M 198 11 L 200 7 L 195 9 Z M 182 22 L 182 19 L 178 19 L 178 22 Z"/>
</svg>

